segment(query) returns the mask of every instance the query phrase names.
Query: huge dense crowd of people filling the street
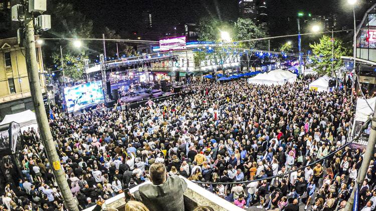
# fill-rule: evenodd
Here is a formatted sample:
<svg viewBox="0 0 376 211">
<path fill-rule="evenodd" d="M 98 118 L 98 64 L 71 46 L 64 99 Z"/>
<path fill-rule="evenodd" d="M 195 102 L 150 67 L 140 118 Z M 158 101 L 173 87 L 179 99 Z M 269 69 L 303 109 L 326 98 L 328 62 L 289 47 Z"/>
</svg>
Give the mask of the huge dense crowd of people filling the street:
<svg viewBox="0 0 376 211">
<path fill-rule="evenodd" d="M 364 153 L 335 152 L 346 143 L 354 105 L 343 90 L 309 90 L 313 79 L 275 86 L 192 81 L 164 101 L 56 115 L 50 127 L 81 209 L 127 196 L 150 179 L 152 163 L 163 163 L 169 176 L 198 182 L 241 208 L 343 210 Z M 6 187 L 0 210 L 63 210 L 38 132 L 31 128 L 23 138 L 23 178 Z M 376 205 L 375 172 L 371 163 L 359 190 L 364 211 Z"/>
</svg>

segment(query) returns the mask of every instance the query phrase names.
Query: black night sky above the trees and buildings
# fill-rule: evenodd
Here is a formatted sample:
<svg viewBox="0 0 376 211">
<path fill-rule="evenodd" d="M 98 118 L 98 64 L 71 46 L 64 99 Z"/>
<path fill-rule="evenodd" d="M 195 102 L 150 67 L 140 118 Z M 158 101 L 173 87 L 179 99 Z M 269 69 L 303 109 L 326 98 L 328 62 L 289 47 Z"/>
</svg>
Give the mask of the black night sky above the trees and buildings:
<svg viewBox="0 0 376 211">
<path fill-rule="evenodd" d="M 66 0 L 94 21 L 95 29 L 104 25 L 117 31 L 138 31 L 142 11 L 152 13 L 153 29 L 168 32 L 179 22 L 197 23 L 203 17 L 236 20 L 239 16 L 238 0 Z M 351 10 L 347 0 L 266 0 L 270 18 L 271 35 L 286 34 L 291 27 L 286 16 L 296 16 L 297 11 L 326 14 L 337 11 L 339 21 L 347 21 Z M 365 1 L 365 0 L 363 0 Z M 339 6 L 342 5 L 342 6 Z M 361 14 L 362 16 L 362 14 Z M 360 19 L 361 17 L 359 17 Z M 296 24 L 296 23 L 295 23 Z M 295 29 L 294 29 L 295 30 Z"/>
</svg>

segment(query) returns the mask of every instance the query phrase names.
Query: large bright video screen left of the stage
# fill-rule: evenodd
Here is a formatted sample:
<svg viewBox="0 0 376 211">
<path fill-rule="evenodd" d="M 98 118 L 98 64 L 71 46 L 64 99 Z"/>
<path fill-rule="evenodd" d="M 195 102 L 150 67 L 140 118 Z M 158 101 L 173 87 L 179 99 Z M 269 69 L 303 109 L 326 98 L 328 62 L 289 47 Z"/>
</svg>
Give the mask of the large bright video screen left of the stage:
<svg viewBox="0 0 376 211">
<path fill-rule="evenodd" d="M 101 80 L 65 87 L 64 94 L 68 112 L 104 102 Z"/>
</svg>

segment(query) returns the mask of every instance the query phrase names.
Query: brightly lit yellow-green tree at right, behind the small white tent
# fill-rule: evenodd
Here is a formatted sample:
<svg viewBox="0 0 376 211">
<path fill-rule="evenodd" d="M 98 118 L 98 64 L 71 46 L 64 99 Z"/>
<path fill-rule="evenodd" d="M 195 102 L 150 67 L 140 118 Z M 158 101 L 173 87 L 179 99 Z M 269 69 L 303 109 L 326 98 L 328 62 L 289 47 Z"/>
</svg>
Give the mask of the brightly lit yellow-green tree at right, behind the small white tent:
<svg viewBox="0 0 376 211">
<path fill-rule="evenodd" d="M 340 59 L 342 55 L 348 55 L 349 50 L 343 47 L 342 40 L 334 38 L 334 60 L 332 62 L 332 40 L 331 37 L 323 35 L 320 38 L 319 43 L 309 44 L 312 48 L 312 53 L 314 56 L 310 57 L 312 59 L 313 65 L 315 66 L 315 71 L 319 74 L 330 74 L 333 63 L 333 70 L 343 66 L 343 61 Z"/>
</svg>

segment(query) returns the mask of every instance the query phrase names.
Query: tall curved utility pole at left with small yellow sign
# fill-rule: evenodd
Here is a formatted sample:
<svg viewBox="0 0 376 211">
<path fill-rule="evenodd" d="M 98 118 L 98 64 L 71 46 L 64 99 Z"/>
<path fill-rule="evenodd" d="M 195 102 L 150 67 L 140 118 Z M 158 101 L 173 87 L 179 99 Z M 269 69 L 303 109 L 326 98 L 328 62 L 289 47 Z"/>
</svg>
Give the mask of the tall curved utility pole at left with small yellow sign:
<svg viewBox="0 0 376 211">
<path fill-rule="evenodd" d="M 56 151 L 56 145 L 52 138 L 50 125 L 48 123 L 39 80 L 37 54 L 35 51 L 34 16 L 28 11 L 27 7 L 25 9 L 25 48 L 30 91 L 32 93 L 41 139 L 43 141 L 48 160 L 51 163 L 52 171 L 59 185 L 61 195 L 65 204 L 67 205 L 66 208 L 68 208 L 70 211 L 78 211 L 77 203 L 73 199 L 65 173 L 61 168 L 60 158 Z"/>
</svg>

